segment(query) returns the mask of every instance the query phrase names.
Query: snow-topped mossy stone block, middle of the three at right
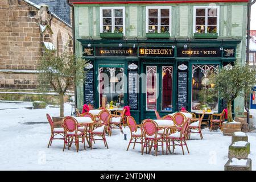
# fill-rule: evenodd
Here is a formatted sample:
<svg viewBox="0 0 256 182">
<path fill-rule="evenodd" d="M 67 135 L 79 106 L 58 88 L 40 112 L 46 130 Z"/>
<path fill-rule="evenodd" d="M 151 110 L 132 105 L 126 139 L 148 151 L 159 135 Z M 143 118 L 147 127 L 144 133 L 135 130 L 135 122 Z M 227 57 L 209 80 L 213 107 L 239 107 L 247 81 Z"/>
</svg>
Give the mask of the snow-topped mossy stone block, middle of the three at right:
<svg viewBox="0 0 256 182">
<path fill-rule="evenodd" d="M 250 154 L 250 143 L 245 141 L 234 142 L 229 146 L 228 158 L 246 159 Z"/>
</svg>

